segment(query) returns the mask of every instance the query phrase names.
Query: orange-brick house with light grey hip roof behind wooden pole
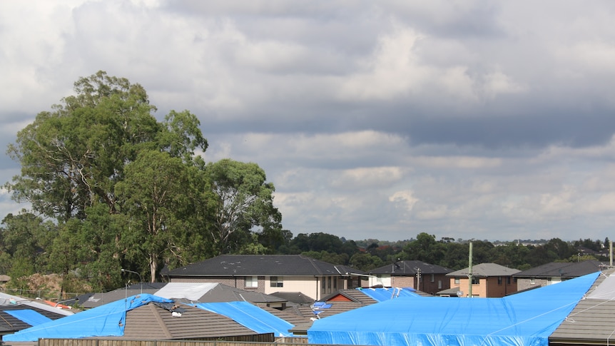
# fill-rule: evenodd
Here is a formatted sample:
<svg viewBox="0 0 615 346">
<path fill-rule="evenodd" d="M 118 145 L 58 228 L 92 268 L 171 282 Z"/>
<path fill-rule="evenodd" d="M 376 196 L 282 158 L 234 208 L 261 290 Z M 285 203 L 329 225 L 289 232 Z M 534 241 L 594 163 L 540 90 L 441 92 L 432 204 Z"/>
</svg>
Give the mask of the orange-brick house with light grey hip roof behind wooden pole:
<svg viewBox="0 0 615 346">
<path fill-rule="evenodd" d="M 512 275 L 521 270 L 504 267 L 495 263 L 481 263 L 472 266 L 472 297 L 504 297 L 517 292 L 517 283 Z M 440 296 L 469 295 L 469 268 L 448 273 L 449 290 L 440 291 Z"/>
</svg>

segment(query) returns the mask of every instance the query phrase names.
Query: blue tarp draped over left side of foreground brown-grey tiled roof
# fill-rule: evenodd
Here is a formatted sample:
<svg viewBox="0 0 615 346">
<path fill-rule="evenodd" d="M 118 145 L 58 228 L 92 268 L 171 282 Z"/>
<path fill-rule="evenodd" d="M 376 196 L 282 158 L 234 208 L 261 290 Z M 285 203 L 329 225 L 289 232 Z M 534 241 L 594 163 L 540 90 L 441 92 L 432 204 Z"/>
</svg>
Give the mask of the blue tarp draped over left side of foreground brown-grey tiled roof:
<svg viewBox="0 0 615 346">
<path fill-rule="evenodd" d="M 14 334 L 4 335 L 3 341 L 36 341 L 45 338 L 78 338 L 121 336 L 124 334 L 126 311 L 150 302 L 172 302 L 156 295 L 133 295 L 126 300 L 110 302 L 75 315 L 62 317 Z"/>
</svg>

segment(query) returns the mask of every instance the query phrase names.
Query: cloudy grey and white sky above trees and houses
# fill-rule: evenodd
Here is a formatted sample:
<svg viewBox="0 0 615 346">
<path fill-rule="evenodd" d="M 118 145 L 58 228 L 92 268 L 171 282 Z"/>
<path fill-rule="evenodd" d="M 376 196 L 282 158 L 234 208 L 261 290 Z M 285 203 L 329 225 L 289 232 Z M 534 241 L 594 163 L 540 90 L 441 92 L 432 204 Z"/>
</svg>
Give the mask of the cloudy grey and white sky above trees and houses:
<svg viewBox="0 0 615 346">
<path fill-rule="evenodd" d="M 0 1 L 0 147 L 99 70 L 283 228 L 349 240 L 615 238 L 615 1 Z M 19 163 L 0 154 L 0 182 Z M 0 217 L 28 205 L 0 190 Z"/>
</svg>

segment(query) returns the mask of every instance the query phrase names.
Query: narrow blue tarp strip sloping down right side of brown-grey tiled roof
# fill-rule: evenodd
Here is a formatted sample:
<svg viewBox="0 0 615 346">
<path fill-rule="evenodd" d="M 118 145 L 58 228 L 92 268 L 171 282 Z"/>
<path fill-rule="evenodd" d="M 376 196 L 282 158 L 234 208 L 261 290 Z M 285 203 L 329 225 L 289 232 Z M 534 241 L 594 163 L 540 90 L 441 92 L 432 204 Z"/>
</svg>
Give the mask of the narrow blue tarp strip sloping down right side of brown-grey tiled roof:
<svg viewBox="0 0 615 346">
<path fill-rule="evenodd" d="M 194 306 L 229 317 L 258 333 L 273 332 L 276 337 L 293 335 L 288 330 L 294 325 L 249 302 L 203 302 Z"/>
</svg>

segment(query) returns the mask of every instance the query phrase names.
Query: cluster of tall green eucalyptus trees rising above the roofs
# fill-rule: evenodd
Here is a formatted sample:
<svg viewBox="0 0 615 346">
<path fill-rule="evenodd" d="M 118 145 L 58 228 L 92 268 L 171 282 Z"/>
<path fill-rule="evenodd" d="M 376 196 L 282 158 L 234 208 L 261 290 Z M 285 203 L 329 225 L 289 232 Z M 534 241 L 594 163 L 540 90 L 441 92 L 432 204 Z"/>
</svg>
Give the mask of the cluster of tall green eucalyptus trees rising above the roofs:
<svg viewBox="0 0 615 346">
<path fill-rule="evenodd" d="M 208 141 L 190 111 L 158 121 L 143 86 L 104 71 L 79 78 L 74 91 L 9 145 L 21 173 L 5 187 L 32 211 L 5 218 L 0 262 L 11 270 L 42 271 L 31 257 L 43 248 L 45 270 L 114 288 L 123 268 L 154 281 L 164 265 L 265 252 L 246 244 L 282 234 L 263 169 L 230 159 L 205 163 L 195 152 Z M 18 246 L 14 229 L 25 225 L 31 233 L 20 233 Z M 37 240 L 41 227 L 47 232 Z M 21 265 L 14 256 L 24 257 Z"/>
</svg>

